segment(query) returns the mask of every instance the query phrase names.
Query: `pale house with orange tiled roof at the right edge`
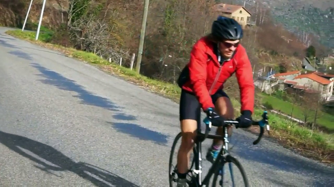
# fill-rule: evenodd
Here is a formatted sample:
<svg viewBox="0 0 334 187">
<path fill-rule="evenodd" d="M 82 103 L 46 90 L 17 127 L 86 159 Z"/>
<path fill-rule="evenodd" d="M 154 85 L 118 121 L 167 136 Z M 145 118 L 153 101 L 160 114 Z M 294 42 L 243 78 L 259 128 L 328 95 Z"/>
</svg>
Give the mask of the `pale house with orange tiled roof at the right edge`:
<svg viewBox="0 0 334 187">
<path fill-rule="evenodd" d="M 322 94 L 322 97 L 327 99 L 333 95 L 333 86 L 334 81 L 322 78 L 318 76 L 315 72 L 299 75 L 294 78 L 294 81 L 297 82 L 297 89 L 304 89 L 319 92 Z M 300 88 L 299 88 L 300 87 Z"/>
</svg>

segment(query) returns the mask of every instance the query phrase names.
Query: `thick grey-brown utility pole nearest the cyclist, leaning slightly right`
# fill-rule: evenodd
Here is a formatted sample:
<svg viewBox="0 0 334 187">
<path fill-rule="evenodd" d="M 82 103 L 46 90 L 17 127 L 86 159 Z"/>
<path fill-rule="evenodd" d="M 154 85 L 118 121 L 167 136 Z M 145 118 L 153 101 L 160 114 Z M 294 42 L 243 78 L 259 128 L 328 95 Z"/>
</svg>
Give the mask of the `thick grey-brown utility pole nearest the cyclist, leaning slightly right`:
<svg viewBox="0 0 334 187">
<path fill-rule="evenodd" d="M 142 21 L 142 29 L 140 31 L 140 40 L 139 40 L 137 63 L 136 63 L 136 71 L 137 71 L 137 73 L 140 73 L 140 63 L 142 61 L 142 54 L 143 54 L 143 47 L 144 47 L 144 38 L 145 38 L 145 30 L 146 30 L 146 20 L 147 20 L 147 17 L 148 17 L 148 4 L 149 4 L 149 0 L 145 0 L 145 2 L 144 2 L 143 21 Z"/>
</svg>

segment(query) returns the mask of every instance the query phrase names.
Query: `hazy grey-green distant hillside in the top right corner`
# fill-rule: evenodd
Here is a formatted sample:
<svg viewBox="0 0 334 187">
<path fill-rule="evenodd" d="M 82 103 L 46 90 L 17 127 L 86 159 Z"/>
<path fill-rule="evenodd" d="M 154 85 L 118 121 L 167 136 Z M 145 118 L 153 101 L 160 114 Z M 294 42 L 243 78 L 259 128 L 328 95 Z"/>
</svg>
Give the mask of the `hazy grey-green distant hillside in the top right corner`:
<svg viewBox="0 0 334 187">
<path fill-rule="evenodd" d="M 303 31 L 313 33 L 327 47 L 334 48 L 333 0 L 259 0 L 270 8 L 274 19 L 302 38 Z M 243 3 L 240 0 L 239 3 Z M 254 6 L 253 0 L 246 4 Z"/>
</svg>

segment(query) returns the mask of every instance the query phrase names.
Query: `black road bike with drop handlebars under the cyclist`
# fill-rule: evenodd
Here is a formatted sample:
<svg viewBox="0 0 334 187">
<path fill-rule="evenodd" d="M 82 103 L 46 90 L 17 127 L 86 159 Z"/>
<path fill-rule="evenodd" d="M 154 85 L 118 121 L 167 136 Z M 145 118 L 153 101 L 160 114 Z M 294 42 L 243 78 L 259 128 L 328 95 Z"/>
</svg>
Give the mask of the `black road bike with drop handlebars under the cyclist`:
<svg viewBox="0 0 334 187">
<path fill-rule="evenodd" d="M 227 127 L 229 125 L 235 125 L 238 128 L 239 122 L 236 120 L 226 120 L 221 125 L 214 125 L 214 126 L 222 126 L 224 136 L 220 135 L 212 135 L 209 134 L 211 131 L 211 127 L 213 124 L 211 124 L 211 112 L 207 113 L 207 117 L 204 119 L 205 124 L 205 133 L 203 134 L 201 132 L 201 128 L 197 129 L 197 137 L 195 140 L 195 146 L 193 148 L 194 158 L 192 159 L 190 169 L 188 171 L 188 176 L 190 176 L 190 180 L 187 180 L 187 184 L 189 187 L 208 187 L 210 183 L 210 179 L 212 175 L 213 177 L 213 184 L 212 187 L 216 187 L 216 182 L 218 181 L 219 176 L 221 176 L 221 180 L 219 181 L 219 185 L 223 187 L 223 175 L 224 175 L 224 169 L 223 166 L 225 163 L 228 163 L 229 171 L 232 179 L 232 187 L 234 187 L 234 176 L 232 171 L 232 163 L 237 166 L 239 171 L 241 171 L 242 179 L 245 184 L 245 187 L 249 187 L 248 179 L 246 176 L 246 173 L 241 166 L 241 163 L 228 151 L 228 133 L 227 133 Z M 253 142 L 253 145 L 256 145 L 260 142 L 263 133 L 264 133 L 264 127 L 267 127 L 267 131 L 269 131 L 269 123 L 268 123 L 268 117 L 267 117 L 267 111 L 264 111 L 262 114 L 262 119 L 260 121 L 252 121 L 252 125 L 259 125 L 260 126 L 260 134 L 257 140 Z M 242 127 L 240 127 L 242 128 Z M 176 187 L 176 181 L 177 181 L 177 166 L 173 167 L 172 161 L 173 161 L 173 155 L 176 148 L 177 141 L 182 137 L 181 132 L 176 136 L 169 156 L 169 187 Z M 202 179 L 202 142 L 205 139 L 221 139 L 224 141 L 223 148 L 220 150 L 220 153 L 218 157 L 216 158 L 215 162 L 210 167 L 208 173 Z M 195 166 L 195 169 L 192 169 Z M 174 184 L 174 186 L 173 186 Z"/>
</svg>

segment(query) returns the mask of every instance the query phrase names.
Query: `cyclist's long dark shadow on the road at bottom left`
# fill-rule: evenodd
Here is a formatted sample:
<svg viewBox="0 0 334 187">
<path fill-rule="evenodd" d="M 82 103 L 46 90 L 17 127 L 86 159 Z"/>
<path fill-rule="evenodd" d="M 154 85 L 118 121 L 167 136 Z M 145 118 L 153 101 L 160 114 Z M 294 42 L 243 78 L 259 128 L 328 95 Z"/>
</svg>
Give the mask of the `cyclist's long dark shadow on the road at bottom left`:
<svg viewBox="0 0 334 187">
<path fill-rule="evenodd" d="M 26 137 L 0 131 L 0 143 L 34 161 L 37 164 L 35 167 L 50 174 L 54 174 L 51 171 L 71 171 L 98 187 L 139 187 L 109 171 L 84 162 L 74 162 L 55 148 Z"/>
</svg>

